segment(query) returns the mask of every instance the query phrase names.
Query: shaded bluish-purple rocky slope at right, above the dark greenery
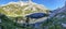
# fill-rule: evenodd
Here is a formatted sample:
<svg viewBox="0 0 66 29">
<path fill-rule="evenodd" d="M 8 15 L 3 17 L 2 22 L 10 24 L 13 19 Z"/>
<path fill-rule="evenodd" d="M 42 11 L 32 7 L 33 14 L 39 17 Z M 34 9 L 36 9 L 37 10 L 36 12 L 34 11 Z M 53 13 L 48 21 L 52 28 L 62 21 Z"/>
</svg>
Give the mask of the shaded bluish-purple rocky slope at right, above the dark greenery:
<svg viewBox="0 0 66 29">
<path fill-rule="evenodd" d="M 59 14 L 66 14 L 66 6 L 58 8 L 56 10 L 52 11 L 50 17 L 55 17 L 55 16 L 58 16 Z"/>
</svg>

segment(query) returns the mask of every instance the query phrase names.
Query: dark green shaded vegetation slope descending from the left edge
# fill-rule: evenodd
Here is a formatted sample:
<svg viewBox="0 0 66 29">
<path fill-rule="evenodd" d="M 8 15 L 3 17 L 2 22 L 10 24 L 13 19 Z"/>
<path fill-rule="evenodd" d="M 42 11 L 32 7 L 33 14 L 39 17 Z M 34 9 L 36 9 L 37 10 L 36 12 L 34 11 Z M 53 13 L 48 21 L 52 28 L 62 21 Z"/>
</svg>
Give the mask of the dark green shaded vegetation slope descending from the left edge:
<svg viewBox="0 0 66 29">
<path fill-rule="evenodd" d="M 24 28 L 23 26 L 20 26 L 20 24 L 8 18 L 6 15 L 0 16 L 0 18 L 2 19 L 2 23 L 0 24 L 2 29 L 15 29 L 15 28 L 23 29 Z"/>
</svg>

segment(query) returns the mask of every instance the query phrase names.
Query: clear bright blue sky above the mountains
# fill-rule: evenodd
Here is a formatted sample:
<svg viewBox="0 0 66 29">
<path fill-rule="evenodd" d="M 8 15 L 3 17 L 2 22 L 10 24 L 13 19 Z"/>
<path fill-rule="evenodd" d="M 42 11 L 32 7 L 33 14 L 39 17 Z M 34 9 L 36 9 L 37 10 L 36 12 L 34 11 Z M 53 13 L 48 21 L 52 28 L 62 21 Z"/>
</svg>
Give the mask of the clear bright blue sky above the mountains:
<svg viewBox="0 0 66 29">
<path fill-rule="evenodd" d="M 11 1 L 19 1 L 19 0 L 0 0 L 0 5 L 1 4 L 7 4 Z M 48 10 L 55 10 L 58 8 L 63 8 L 65 5 L 66 0 L 32 0 L 35 3 L 43 4 L 45 8 Z"/>
</svg>

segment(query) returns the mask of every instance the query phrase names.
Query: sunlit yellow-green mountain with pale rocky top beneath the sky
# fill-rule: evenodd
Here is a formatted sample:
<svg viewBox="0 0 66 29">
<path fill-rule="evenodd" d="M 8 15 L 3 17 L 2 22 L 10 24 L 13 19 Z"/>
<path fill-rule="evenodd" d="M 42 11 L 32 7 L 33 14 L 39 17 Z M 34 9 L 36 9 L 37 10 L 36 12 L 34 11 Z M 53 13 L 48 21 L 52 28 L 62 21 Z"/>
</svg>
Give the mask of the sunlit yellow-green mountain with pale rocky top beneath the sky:
<svg viewBox="0 0 66 29">
<path fill-rule="evenodd" d="M 0 13 L 6 14 L 7 16 L 25 16 L 32 13 L 46 13 L 50 11 L 42 4 L 37 4 L 34 2 L 9 2 L 4 5 L 0 6 Z"/>
</svg>

